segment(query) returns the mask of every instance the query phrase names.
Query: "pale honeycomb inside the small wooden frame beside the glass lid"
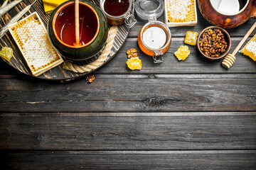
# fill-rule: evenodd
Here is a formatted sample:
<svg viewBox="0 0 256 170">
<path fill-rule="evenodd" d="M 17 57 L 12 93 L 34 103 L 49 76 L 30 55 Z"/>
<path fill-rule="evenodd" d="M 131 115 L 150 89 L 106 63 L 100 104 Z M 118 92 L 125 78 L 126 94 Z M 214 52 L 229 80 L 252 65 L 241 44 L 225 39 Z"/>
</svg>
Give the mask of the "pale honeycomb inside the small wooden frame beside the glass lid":
<svg viewBox="0 0 256 170">
<path fill-rule="evenodd" d="M 196 0 L 166 0 L 167 17 L 171 23 L 196 21 Z"/>
</svg>

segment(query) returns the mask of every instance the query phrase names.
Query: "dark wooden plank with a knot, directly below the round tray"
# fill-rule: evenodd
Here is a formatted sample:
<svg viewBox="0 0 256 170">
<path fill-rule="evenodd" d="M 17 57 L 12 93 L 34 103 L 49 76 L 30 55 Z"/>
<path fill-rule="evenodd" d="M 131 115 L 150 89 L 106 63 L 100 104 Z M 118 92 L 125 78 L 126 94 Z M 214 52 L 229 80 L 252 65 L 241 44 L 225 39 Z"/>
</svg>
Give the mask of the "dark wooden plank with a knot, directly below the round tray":
<svg viewBox="0 0 256 170">
<path fill-rule="evenodd" d="M 256 111 L 255 80 L 255 74 L 102 74 L 92 84 L 3 78 L 0 111 Z"/>
</svg>

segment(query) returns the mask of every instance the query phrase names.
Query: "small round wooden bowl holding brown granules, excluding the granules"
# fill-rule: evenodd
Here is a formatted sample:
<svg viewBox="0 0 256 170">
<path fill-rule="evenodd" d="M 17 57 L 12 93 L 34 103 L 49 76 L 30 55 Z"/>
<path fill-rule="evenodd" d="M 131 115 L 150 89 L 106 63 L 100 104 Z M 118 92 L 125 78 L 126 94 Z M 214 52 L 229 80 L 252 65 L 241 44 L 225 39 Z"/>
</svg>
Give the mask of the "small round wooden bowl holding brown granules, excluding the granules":
<svg viewBox="0 0 256 170">
<path fill-rule="evenodd" d="M 219 30 L 221 30 L 221 32 L 224 34 L 225 41 L 228 42 L 228 48 L 227 48 L 227 50 L 226 50 L 222 55 L 220 55 L 219 57 L 210 57 L 210 56 L 207 56 L 207 55 L 205 55 L 205 54 L 202 52 L 202 50 L 200 49 L 199 40 L 200 40 L 202 34 L 203 34 L 206 30 L 208 30 L 208 29 L 212 29 L 212 30 L 213 30 L 213 29 L 219 29 Z M 228 54 L 228 51 L 230 50 L 230 47 L 231 47 L 231 38 L 230 38 L 230 35 L 228 34 L 228 32 L 227 32 L 226 30 L 224 30 L 223 28 L 220 28 L 220 27 L 217 27 L 217 26 L 209 26 L 209 27 L 203 29 L 203 30 L 201 31 L 201 33 L 198 35 L 198 40 L 197 40 L 197 42 L 196 42 L 196 47 L 197 47 L 197 49 L 198 49 L 198 52 L 200 52 L 200 54 L 201 54 L 204 58 L 206 58 L 207 60 L 218 60 L 218 59 L 220 59 L 220 58 L 225 57 L 225 55 Z"/>
</svg>

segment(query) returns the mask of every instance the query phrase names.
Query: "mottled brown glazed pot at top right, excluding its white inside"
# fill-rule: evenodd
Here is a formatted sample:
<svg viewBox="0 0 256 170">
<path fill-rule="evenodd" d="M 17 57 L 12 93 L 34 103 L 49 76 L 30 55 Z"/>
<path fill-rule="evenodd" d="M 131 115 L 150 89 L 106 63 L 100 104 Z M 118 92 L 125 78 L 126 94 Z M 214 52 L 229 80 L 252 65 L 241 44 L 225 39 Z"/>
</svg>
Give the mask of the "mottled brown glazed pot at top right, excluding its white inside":
<svg viewBox="0 0 256 170">
<path fill-rule="evenodd" d="M 245 6 L 235 14 L 223 14 L 215 10 L 210 0 L 198 0 L 198 8 L 204 18 L 215 26 L 234 28 L 256 16 L 256 0 L 247 0 Z"/>
</svg>

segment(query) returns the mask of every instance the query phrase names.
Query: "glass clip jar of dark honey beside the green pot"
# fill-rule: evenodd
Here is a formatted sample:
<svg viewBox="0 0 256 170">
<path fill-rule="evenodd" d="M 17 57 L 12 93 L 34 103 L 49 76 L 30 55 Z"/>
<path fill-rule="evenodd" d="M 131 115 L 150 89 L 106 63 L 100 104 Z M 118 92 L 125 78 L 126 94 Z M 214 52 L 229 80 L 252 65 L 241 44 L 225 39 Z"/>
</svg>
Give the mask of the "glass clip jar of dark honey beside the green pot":
<svg viewBox="0 0 256 170">
<path fill-rule="evenodd" d="M 129 28 L 132 28 L 137 22 L 133 15 L 133 0 L 100 0 L 100 8 L 107 17 L 107 23 L 111 26 L 126 23 Z"/>
</svg>

